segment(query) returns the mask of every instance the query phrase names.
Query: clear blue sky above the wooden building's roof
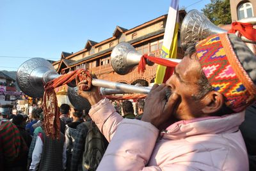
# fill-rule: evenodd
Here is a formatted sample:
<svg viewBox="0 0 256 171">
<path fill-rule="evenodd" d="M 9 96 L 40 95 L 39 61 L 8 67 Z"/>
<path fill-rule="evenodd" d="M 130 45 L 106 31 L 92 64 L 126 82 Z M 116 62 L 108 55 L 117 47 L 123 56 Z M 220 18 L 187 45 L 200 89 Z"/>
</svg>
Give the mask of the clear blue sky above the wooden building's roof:
<svg viewBox="0 0 256 171">
<path fill-rule="evenodd" d="M 201 10 L 208 3 L 180 0 L 179 6 Z M 58 61 L 62 51 L 110 38 L 116 26 L 131 29 L 156 19 L 169 6 L 170 0 L 1 0 L 0 70 L 16 71 L 31 57 Z"/>
</svg>

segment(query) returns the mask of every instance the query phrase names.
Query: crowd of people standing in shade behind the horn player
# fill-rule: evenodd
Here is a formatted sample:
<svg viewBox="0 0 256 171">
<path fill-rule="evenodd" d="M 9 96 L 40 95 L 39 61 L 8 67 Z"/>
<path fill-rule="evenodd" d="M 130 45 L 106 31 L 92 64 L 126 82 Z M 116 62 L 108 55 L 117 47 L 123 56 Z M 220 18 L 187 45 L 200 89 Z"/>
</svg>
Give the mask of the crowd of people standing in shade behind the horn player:
<svg viewBox="0 0 256 171">
<path fill-rule="evenodd" d="M 112 103 L 113 107 L 120 108 L 120 114 L 124 117 L 127 117 L 128 112 L 132 119 L 136 116 L 141 118 L 144 100 Z M 138 114 L 134 113 L 132 103 L 138 107 L 135 108 Z M 108 141 L 92 123 L 88 111 L 62 104 L 59 140 L 47 137 L 44 133 L 42 105 L 34 106 L 31 115 L 18 112 L 10 118 L 8 113 L 0 113 L 0 170 L 96 170 L 108 147 Z M 95 133 L 90 133 L 91 130 L 98 133 L 97 138 Z M 95 147 L 99 146 L 96 154 L 90 153 L 95 147 L 86 147 L 90 146 L 90 141 Z M 102 154 L 97 154 L 99 151 Z"/>
</svg>

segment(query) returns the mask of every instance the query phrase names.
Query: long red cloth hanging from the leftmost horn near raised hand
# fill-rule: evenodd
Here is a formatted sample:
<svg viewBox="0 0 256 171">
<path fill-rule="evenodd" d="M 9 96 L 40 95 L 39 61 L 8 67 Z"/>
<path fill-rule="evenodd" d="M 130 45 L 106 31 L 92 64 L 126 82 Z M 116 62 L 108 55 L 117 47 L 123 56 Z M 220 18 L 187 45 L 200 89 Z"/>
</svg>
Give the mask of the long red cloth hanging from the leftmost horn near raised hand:
<svg viewBox="0 0 256 171">
<path fill-rule="evenodd" d="M 86 80 L 88 86 L 84 87 L 84 91 L 90 89 L 92 85 L 92 77 L 90 72 L 84 69 L 71 71 L 65 75 L 61 75 L 60 77 L 47 82 L 47 84 L 44 86 L 44 131 L 45 135 L 51 138 L 60 139 L 60 112 L 54 88 L 68 84 L 68 82 L 72 82 L 72 80 L 75 79 L 78 82 L 81 80 Z"/>
</svg>

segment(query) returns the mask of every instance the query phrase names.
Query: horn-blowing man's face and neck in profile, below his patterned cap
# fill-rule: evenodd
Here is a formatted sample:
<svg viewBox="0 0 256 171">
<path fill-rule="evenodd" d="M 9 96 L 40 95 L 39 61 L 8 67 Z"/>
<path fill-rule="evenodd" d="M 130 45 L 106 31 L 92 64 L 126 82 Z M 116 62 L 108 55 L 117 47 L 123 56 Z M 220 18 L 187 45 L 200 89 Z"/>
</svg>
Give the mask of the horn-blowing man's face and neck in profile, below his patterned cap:
<svg viewBox="0 0 256 171">
<path fill-rule="evenodd" d="M 172 88 L 172 92 L 180 96 L 180 102 L 174 114 L 178 120 L 192 119 L 202 114 L 202 103 L 193 98 L 199 90 L 200 70 L 201 66 L 195 55 L 185 56 L 175 67 L 172 77 L 166 81 L 166 85 Z"/>
</svg>

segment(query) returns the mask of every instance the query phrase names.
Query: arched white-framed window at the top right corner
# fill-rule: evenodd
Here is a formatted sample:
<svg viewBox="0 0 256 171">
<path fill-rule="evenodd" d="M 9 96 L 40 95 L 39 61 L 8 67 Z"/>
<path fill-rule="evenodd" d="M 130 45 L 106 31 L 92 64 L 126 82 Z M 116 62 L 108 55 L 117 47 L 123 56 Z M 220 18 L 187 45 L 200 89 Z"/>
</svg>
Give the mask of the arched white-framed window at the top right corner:
<svg viewBox="0 0 256 171">
<path fill-rule="evenodd" d="M 252 3 L 240 4 L 237 8 L 238 20 L 253 17 Z"/>
</svg>

